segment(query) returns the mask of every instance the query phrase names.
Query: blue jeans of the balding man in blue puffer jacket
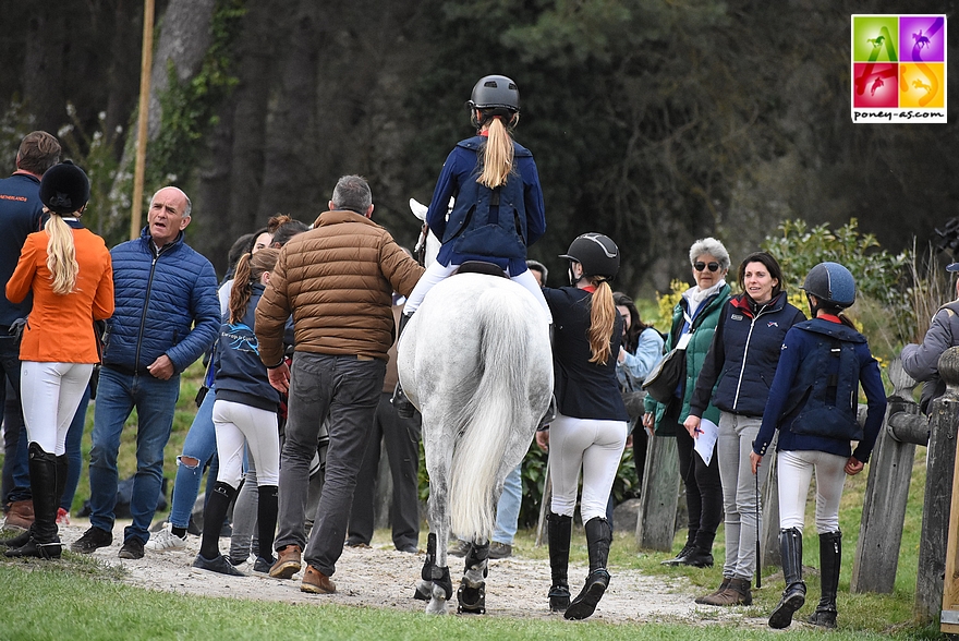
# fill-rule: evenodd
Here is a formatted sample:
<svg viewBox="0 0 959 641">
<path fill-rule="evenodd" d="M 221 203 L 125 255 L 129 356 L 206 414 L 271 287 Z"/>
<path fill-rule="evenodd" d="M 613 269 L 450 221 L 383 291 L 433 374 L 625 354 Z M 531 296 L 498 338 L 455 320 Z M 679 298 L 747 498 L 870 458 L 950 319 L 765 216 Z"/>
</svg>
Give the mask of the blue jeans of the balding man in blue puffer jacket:
<svg viewBox="0 0 959 641">
<path fill-rule="evenodd" d="M 149 541 L 149 524 L 157 509 L 163 480 L 163 448 L 173 427 L 173 410 L 180 398 L 180 376 L 169 380 L 149 374 L 123 374 L 110 367 L 100 371 L 100 386 L 94 410 L 90 449 L 90 525 L 112 531 L 117 506 L 117 455 L 123 423 L 136 408 L 136 475 L 123 540 Z"/>
</svg>

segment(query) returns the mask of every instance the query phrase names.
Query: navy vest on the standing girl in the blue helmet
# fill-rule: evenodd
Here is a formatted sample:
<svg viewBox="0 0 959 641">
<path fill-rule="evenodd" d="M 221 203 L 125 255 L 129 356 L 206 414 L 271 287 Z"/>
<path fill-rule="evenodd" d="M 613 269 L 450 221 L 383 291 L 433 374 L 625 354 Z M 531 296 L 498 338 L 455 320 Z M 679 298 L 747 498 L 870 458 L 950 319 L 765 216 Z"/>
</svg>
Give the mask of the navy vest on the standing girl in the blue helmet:
<svg viewBox="0 0 959 641">
<path fill-rule="evenodd" d="M 815 347 L 799 366 L 786 415 L 796 415 L 793 434 L 862 440 L 859 411 L 859 359 L 855 343 L 865 337 L 845 325 L 825 328 L 805 320 L 793 326 L 814 336 Z"/>
</svg>

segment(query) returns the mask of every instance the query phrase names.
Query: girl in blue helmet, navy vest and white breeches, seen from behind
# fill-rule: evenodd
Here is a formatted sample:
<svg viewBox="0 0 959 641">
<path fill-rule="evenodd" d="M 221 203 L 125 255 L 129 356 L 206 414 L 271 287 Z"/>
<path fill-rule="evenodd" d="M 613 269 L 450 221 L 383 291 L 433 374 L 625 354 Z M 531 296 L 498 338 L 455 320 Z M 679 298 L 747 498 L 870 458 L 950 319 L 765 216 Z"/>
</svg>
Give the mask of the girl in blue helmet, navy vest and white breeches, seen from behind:
<svg viewBox="0 0 959 641">
<path fill-rule="evenodd" d="M 786 590 L 769 626 L 786 628 L 805 603 L 802 527 L 813 472 L 820 534 L 820 603 L 809 622 L 836 627 L 836 590 L 842 558 L 839 500 L 846 475 L 869 460 L 886 411 L 879 366 L 865 337 L 842 315 L 855 302 L 855 281 L 838 263 L 820 263 L 805 277 L 811 320 L 786 334 L 763 423 L 750 452 L 753 473 L 779 431 L 779 547 Z M 863 426 L 857 420 L 859 386 L 865 391 Z M 857 442 L 852 450 L 850 442 Z"/>
</svg>

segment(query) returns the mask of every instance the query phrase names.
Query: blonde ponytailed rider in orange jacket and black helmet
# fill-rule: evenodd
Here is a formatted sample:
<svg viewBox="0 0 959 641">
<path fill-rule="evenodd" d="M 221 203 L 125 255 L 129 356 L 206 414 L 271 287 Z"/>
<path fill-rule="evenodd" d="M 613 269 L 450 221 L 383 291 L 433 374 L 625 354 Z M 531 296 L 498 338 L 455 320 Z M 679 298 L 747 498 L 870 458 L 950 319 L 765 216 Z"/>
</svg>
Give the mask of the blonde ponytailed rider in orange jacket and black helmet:
<svg viewBox="0 0 959 641">
<path fill-rule="evenodd" d="M 113 313 L 113 269 L 104 239 L 80 217 L 89 180 L 70 161 L 47 170 L 40 201 L 49 219 L 27 237 L 7 298 L 33 292 L 20 346 L 23 418 L 29 438 L 29 479 L 35 521 L 7 556 L 60 557 L 57 508 L 66 483 L 66 431 L 99 362 L 94 320 Z"/>
</svg>

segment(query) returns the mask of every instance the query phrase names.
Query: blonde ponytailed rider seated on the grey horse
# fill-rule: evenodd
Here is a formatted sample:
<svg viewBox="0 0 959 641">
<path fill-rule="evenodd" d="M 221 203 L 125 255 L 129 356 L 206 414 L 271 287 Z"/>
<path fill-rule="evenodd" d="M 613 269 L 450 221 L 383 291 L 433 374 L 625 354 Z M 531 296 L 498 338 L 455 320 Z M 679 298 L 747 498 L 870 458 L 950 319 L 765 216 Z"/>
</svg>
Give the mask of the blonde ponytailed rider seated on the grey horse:
<svg viewBox="0 0 959 641">
<path fill-rule="evenodd" d="M 539 283 L 526 269 L 526 247 L 546 231 L 546 216 L 533 154 L 510 135 L 520 119 L 520 92 L 510 78 L 487 75 L 466 106 L 476 135 L 457 143 L 442 166 L 426 213 L 442 245 L 403 313 L 412 316 L 426 292 L 464 262 L 484 261 L 530 290 L 548 314 Z"/>
</svg>

